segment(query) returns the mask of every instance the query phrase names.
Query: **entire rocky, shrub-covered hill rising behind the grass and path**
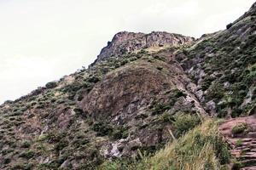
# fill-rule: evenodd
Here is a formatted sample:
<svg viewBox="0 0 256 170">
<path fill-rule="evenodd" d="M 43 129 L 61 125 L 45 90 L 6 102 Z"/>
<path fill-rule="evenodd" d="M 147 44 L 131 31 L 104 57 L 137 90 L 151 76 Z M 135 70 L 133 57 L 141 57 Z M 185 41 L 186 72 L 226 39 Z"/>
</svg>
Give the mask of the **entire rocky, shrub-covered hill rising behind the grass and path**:
<svg viewBox="0 0 256 170">
<path fill-rule="evenodd" d="M 0 168 L 117 169 L 102 165 L 152 156 L 210 116 L 253 115 L 255 11 L 198 40 L 119 32 L 88 69 L 6 101 Z"/>
</svg>

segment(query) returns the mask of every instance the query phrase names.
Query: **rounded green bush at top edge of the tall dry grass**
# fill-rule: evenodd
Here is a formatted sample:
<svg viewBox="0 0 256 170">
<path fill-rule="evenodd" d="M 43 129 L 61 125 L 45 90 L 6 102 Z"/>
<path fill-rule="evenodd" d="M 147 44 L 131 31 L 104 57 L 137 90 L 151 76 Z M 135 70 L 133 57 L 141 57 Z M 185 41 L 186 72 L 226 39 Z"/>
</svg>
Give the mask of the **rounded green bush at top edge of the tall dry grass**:
<svg viewBox="0 0 256 170">
<path fill-rule="evenodd" d="M 179 137 L 200 123 L 201 119 L 197 115 L 181 114 L 173 122 L 173 127 L 177 137 Z"/>
</svg>

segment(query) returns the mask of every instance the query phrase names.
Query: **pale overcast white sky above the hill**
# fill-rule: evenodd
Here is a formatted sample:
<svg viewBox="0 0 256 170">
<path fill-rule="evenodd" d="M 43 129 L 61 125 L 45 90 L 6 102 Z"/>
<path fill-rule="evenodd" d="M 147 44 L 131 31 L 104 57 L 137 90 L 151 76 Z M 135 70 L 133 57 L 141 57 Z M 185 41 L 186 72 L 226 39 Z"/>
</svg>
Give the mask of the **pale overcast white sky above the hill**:
<svg viewBox="0 0 256 170">
<path fill-rule="evenodd" d="M 201 37 L 254 0 L 0 0 L 0 104 L 90 65 L 119 31 Z"/>
</svg>

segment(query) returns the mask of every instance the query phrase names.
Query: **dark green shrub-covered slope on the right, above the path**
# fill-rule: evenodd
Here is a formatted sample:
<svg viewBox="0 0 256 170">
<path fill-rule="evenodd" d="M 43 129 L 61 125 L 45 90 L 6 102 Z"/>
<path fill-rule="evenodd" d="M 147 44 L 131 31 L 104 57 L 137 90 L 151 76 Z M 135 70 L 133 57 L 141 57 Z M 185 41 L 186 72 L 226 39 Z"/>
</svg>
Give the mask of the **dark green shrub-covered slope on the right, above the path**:
<svg viewBox="0 0 256 170">
<path fill-rule="evenodd" d="M 227 26 L 202 37 L 176 54 L 197 85 L 195 94 L 205 109 L 224 116 L 256 112 L 256 4 Z"/>
</svg>

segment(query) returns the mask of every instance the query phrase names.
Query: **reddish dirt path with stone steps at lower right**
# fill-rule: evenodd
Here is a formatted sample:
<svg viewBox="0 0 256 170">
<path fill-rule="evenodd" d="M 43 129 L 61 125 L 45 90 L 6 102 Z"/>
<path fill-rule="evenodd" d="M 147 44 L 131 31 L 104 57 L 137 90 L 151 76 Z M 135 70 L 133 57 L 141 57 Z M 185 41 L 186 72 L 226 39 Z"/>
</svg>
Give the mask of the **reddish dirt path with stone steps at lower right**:
<svg viewBox="0 0 256 170">
<path fill-rule="evenodd" d="M 230 144 L 231 156 L 236 160 L 233 169 L 256 170 L 256 116 L 229 119 L 219 130 Z"/>
</svg>

